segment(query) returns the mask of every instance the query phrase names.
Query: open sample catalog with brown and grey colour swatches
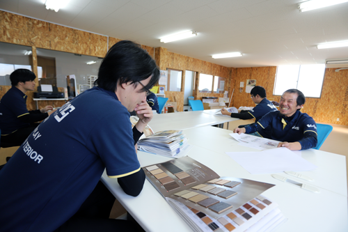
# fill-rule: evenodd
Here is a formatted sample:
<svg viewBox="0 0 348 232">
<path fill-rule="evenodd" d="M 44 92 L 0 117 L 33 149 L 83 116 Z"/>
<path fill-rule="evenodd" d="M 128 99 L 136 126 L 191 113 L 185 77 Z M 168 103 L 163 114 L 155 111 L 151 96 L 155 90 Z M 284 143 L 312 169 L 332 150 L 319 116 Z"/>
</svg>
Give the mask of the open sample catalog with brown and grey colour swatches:
<svg viewBox="0 0 348 232">
<path fill-rule="evenodd" d="M 187 156 L 143 171 L 193 231 L 273 231 L 287 220 L 277 203 L 260 195 L 275 185 L 220 177 Z"/>
</svg>

